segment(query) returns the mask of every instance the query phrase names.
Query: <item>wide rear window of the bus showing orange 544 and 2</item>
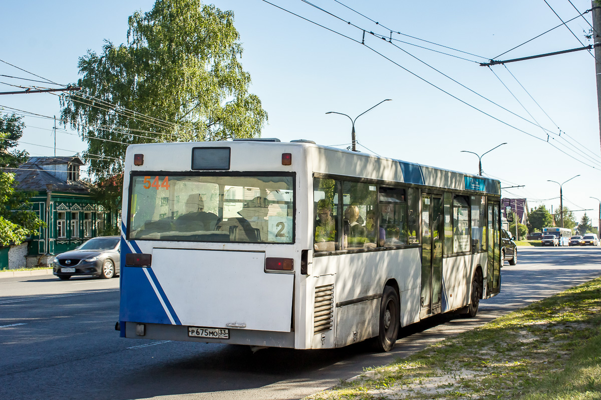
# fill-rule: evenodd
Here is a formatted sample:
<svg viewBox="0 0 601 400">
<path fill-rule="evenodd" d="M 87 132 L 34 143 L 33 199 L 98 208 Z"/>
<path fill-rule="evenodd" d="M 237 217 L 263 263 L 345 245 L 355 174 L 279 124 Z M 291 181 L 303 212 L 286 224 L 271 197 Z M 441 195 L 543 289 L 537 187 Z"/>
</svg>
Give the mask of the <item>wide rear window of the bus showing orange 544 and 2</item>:
<svg viewBox="0 0 601 400">
<path fill-rule="evenodd" d="M 293 242 L 293 177 L 132 176 L 128 239 Z"/>
</svg>

